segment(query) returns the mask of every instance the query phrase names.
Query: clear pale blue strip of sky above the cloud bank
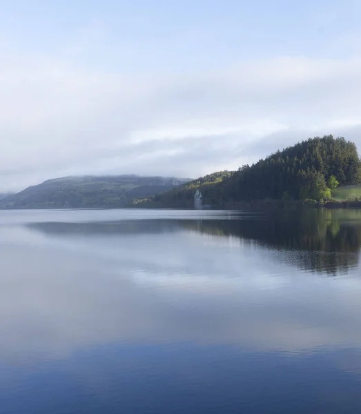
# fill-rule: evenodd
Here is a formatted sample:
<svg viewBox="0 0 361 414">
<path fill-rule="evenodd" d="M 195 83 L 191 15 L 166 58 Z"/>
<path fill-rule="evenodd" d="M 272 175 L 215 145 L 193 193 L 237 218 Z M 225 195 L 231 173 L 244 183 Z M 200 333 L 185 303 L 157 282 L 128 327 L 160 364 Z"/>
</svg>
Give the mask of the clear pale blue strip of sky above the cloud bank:
<svg viewBox="0 0 361 414">
<path fill-rule="evenodd" d="M 89 67 L 204 68 L 275 56 L 347 57 L 338 41 L 360 31 L 361 2 L 318 1 L 1 1 L 1 34 L 17 50 L 54 54 L 83 36 Z"/>
</svg>

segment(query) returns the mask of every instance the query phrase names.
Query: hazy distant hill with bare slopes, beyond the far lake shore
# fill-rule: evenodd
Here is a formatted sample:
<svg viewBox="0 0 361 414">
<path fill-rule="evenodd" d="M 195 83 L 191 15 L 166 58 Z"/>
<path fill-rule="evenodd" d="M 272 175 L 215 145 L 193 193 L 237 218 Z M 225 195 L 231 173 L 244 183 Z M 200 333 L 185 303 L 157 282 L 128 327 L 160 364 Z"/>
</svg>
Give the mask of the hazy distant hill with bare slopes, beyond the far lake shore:
<svg viewBox="0 0 361 414">
<path fill-rule="evenodd" d="M 0 199 L 0 208 L 122 208 L 189 179 L 138 175 L 63 177 Z"/>
</svg>

